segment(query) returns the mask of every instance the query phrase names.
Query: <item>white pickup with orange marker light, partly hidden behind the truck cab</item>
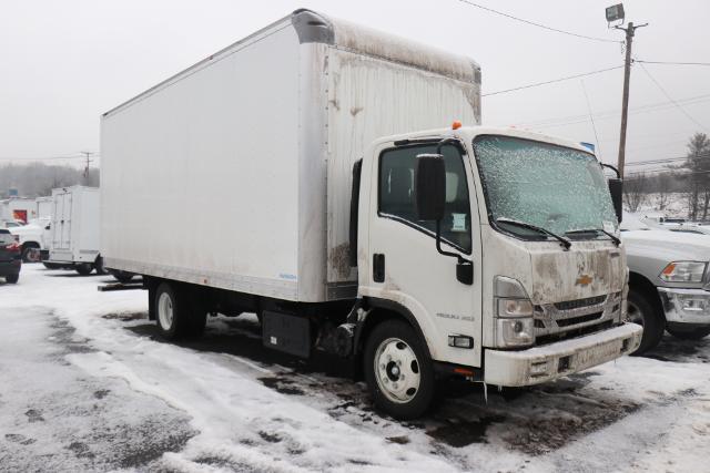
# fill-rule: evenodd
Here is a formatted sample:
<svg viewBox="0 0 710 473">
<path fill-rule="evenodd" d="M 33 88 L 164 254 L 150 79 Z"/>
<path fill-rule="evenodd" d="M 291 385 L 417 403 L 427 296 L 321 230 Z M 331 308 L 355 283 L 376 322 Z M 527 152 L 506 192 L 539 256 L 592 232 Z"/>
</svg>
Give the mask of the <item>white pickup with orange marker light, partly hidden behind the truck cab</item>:
<svg viewBox="0 0 710 473">
<path fill-rule="evenodd" d="M 628 317 L 643 326 L 637 353 L 656 347 L 665 330 L 691 340 L 710 335 L 710 238 L 650 228 L 633 216 L 625 217 L 621 228 Z"/>
</svg>

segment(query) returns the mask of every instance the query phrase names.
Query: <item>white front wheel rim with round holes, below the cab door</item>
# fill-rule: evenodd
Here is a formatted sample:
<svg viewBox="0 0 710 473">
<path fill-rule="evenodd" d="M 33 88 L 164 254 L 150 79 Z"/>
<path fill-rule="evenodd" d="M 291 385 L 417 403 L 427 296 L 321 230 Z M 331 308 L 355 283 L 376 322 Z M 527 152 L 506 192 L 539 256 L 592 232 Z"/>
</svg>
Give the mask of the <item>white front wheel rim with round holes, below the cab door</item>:
<svg viewBox="0 0 710 473">
<path fill-rule="evenodd" d="M 375 351 L 374 369 L 379 391 L 388 400 L 404 404 L 419 392 L 419 360 L 405 341 L 388 338 L 379 343 Z"/>
</svg>

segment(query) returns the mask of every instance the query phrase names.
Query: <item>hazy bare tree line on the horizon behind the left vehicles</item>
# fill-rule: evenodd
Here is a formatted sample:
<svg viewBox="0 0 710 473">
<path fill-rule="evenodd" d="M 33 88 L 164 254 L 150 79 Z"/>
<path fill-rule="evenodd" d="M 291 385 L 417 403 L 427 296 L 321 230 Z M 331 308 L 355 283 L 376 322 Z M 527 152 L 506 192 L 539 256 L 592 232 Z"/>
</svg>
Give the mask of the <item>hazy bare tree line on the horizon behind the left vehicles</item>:
<svg viewBox="0 0 710 473">
<path fill-rule="evenodd" d="M 77 184 L 99 186 L 99 169 L 89 169 L 68 164 L 4 164 L 0 165 L 0 198 L 7 198 L 10 189 L 17 189 L 21 197 L 41 197 L 52 194 L 53 188 Z"/>
</svg>

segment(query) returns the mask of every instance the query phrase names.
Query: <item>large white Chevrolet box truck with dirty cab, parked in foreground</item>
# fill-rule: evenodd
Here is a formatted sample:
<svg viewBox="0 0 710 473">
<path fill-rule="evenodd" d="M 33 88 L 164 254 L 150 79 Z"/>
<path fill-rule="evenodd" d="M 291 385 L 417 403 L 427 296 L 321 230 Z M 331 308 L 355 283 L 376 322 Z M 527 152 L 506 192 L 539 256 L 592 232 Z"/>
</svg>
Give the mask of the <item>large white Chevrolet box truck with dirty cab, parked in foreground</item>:
<svg viewBox="0 0 710 473">
<path fill-rule="evenodd" d="M 471 60 L 297 10 L 103 114 L 105 265 L 143 276 L 164 337 L 256 312 L 266 347 L 354 358 L 399 419 L 439 377 L 633 351 L 599 162 L 479 122 Z"/>
</svg>

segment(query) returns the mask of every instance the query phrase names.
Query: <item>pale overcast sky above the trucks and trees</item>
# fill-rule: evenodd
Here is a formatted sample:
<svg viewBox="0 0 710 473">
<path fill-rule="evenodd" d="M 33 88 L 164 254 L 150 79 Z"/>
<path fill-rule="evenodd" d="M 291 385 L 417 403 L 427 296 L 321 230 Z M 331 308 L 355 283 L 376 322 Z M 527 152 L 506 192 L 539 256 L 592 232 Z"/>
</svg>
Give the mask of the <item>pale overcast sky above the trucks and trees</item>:
<svg viewBox="0 0 710 473">
<path fill-rule="evenodd" d="M 476 3 L 621 40 L 605 20 L 613 1 Z M 627 21 L 650 23 L 637 31 L 637 59 L 710 62 L 709 1 L 623 3 Z M 303 7 L 468 55 L 481 65 L 484 94 L 623 61 L 618 43 L 546 31 L 459 0 L 0 0 L 0 163 L 98 151 L 102 112 Z M 635 65 L 627 161 L 682 156 L 692 133 L 710 130 L 710 66 L 645 66 L 682 110 Z M 484 97 L 483 123 L 596 142 L 602 161 L 616 163 L 622 76 L 618 69 L 584 85 L 575 79 Z"/>
</svg>

